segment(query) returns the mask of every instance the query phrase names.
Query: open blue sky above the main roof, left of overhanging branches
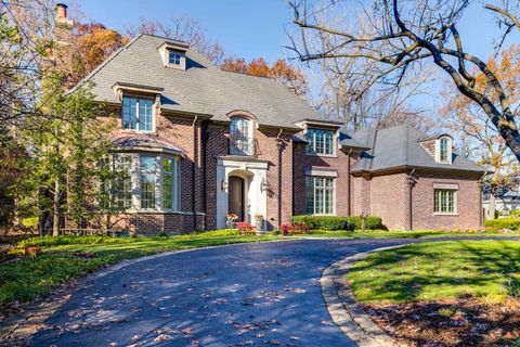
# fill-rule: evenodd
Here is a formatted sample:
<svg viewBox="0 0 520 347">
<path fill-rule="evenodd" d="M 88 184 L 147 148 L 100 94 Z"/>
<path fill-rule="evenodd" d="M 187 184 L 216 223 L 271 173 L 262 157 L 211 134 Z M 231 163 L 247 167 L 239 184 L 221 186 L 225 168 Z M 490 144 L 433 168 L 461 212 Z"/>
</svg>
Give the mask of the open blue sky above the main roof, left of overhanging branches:
<svg viewBox="0 0 520 347">
<path fill-rule="evenodd" d="M 247 60 L 284 56 L 285 26 L 291 12 L 283 0 L 88 0 L 81 1 L 88 17 L 115 29 L 139 23 L 140 17 L 168 21 L 187 15 L 200 22 L 205 34 L 227 54 Z"/>
</svg>

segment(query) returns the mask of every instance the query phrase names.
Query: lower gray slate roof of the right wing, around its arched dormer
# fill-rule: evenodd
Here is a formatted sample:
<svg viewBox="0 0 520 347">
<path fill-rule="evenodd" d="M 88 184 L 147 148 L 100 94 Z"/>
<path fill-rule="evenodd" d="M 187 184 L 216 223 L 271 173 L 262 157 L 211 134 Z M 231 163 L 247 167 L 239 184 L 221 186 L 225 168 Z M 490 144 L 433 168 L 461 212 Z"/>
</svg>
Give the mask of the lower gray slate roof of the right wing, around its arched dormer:
<svg viewBox="0 0 520 347">
<path fill-rule="evenodd" d="M 437 163 L 419 143 L 426 138 L 426 133 L 408 124 L 381 130 L 362 128 L 353 133 L 352 139 L 370 150 L 363 153 L 362 159 L 352 168 L 352 172 L 373 172 L 403 166 L 485 172 L 482 167 L 455 153 L 452 164 Z"/>
</svg>

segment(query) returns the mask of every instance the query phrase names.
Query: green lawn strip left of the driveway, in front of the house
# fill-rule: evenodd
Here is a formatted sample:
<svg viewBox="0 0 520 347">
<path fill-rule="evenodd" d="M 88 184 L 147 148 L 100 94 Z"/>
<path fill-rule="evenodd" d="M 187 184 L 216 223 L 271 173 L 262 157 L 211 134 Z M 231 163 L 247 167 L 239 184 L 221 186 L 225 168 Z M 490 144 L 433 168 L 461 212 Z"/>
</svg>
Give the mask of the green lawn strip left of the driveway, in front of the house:
<svg viewBox="0 0 520 347">
<path fill-rule="evenodd" d="M 74 278 L 125 259 L 176 249 L 277 239 L 217 232 L 147 239 L 37 237 L 23 244 L 42 245 L 41 256 L 0 264 L 0 308 L 15 300 L 28 301 L 36 295 L 48 294 Z"/>
</svg>

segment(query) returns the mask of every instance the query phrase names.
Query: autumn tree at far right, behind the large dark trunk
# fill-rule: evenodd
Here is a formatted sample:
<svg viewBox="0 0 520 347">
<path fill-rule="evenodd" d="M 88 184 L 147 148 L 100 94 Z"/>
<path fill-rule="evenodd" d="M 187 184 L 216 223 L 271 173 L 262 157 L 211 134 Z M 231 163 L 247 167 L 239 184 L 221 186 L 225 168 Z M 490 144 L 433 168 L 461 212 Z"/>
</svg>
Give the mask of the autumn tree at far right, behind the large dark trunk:
<svg viewBox="0 0 520 347">
<path fill-rule="evenodd" d="M 511 46 L 502 51 L 499 56 L 491 56 L 486 66 L 502 81 L 514 107 L 512 113 L 519 114 L 520 101 L 520 46 Z M 479 93 L 498 99 L 494 88 L 490 86 L 482 73 L 473 72 L 476 89 Z M 444 126 L 458 134 L 468 156 L 490 168 L 493 175 L 486 178 L 490 187 L 490 208 L 487 218 L 495 216 L 495 195 L 500 188 L 512 188 L 517 184 L 515 178 L 519 174 L 518 160 L 507 146 L 503 137 L 481 107 L 470 99 L 450 88 L 443 93 L 445 103 L 441 110 L 445 116 Z"/>
</svg>

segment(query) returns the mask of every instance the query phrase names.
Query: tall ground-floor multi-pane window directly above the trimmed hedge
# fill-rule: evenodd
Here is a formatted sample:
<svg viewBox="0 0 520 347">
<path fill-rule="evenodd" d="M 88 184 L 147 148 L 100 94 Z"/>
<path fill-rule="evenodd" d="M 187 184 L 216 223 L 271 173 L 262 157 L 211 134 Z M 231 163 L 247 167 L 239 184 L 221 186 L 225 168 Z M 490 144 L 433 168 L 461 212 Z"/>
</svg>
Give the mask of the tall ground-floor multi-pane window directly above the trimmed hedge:
<svg viewBox="0 0 520 347">
<path fill-rule="evenodd" d="M 306 213 L 308 215 L 334 215 L 335 179 L 306 176 Z"/>
</svg>

